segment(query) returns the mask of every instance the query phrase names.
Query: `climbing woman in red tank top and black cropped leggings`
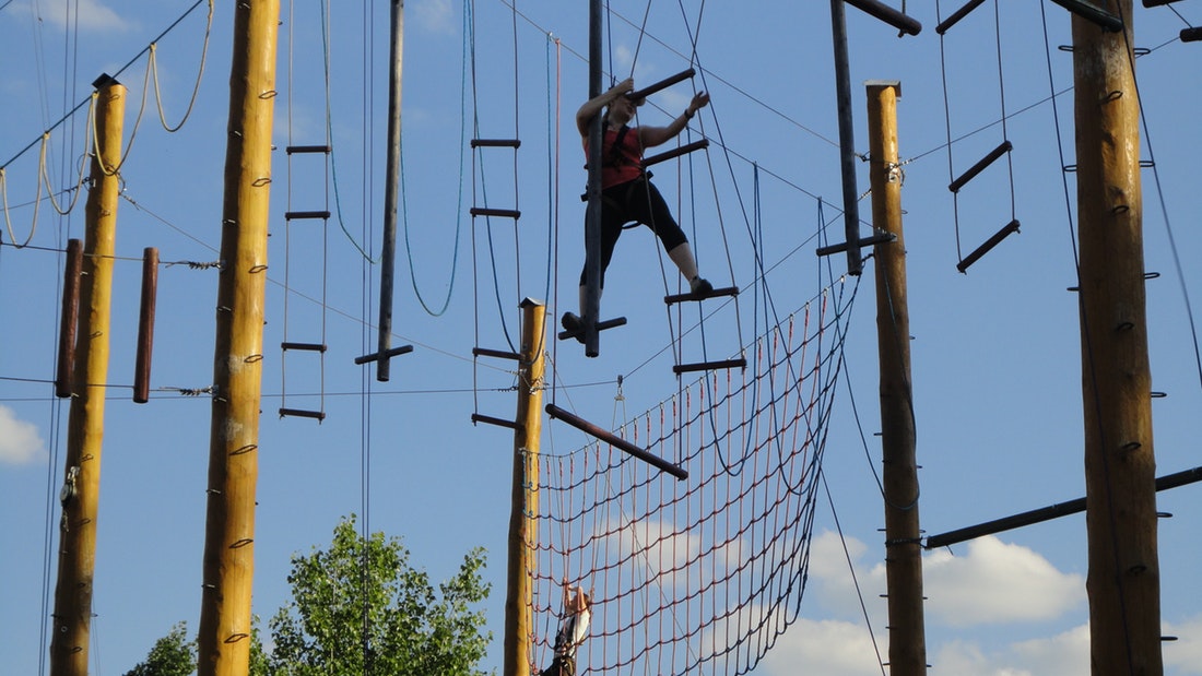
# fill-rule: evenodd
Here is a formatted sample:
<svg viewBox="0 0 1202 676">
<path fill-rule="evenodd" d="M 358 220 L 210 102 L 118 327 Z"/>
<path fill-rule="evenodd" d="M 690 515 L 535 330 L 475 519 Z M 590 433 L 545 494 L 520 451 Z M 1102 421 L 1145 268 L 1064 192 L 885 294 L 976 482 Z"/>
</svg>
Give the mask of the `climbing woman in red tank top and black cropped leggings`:
<svg viewBox="0 0 1202 676">
<path fill-rule="evenodd" d="M 608 91 L 588 100 L 576 112 L 576 128 L 581 132 L 587 156 L 589 124 L 594 115 L 605 109 L 601 143 L 601 288 L 605 288 L 605 270 L 609 265 L 623 226 L 633 221 L 651 228 L 664 244 L 668 258 L 689 281 L 689 291 L 694 295 L 704 295 L 714 287 L 697 274 L 697 262 L 689 247 L 689 239 L 672 217 L 660 191 L 649 180 L 650 174 L 643 172 L 643 149 L 676 138 L 697 110 L 709 104 L 709 94 L 704 91 L 695 94 L 684 113 L 666 127 L 630 127 L 627 122 L 635 116 L 635 107 L 643 103 L 642 100 L 635 101 L 630 97 L 633 89 L 633 78 L 626 78 Z M 585 270 L 581 271 L 581 315 L 565 312 L 560 321 L 564 329 L 575 331 L 576 339 L 581 342 L 584 342 L 582 317 L 587 292 L 585 275 L 587 264 Z M 600 289 L 597 291 L 600 293 Z"/>
</svg>

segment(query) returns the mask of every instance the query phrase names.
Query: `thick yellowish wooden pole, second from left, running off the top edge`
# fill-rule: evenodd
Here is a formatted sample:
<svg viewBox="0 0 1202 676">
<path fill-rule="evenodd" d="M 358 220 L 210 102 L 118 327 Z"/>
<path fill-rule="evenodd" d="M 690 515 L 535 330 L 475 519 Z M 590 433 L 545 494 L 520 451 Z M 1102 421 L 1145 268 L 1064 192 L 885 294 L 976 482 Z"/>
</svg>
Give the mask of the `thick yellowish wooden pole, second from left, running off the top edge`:
<svg viewBox="0 0 1202 676">
<path fill-rule="evenodd" d="M 279 0 L 232 5 L 230 122 L 221 208 L 209 430 L 200 676 L 245 676 L 255 569 L 267 217 L 272 187 Z"/>
</svg>

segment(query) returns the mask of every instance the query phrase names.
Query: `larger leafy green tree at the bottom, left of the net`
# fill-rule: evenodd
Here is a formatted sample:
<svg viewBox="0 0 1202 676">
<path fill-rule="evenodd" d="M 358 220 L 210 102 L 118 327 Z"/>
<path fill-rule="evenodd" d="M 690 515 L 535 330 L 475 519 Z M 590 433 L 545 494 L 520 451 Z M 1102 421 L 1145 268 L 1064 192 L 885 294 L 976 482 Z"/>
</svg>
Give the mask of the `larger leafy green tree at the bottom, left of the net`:
<svg viewBox="0 0 1202 676">
<path fill-rule="evenodd" d="M 290 676 L 480 676 L 492 633 L 478 609 L 488 598 L 484 551 L 435 591 L 383 533 L 363 538 L 355 515 L 328 550 L 292 557 L 292 602 L 270 621 L 273 674 Z M 476 608 L 476 610 L 474 610 Z"/>
</svg>

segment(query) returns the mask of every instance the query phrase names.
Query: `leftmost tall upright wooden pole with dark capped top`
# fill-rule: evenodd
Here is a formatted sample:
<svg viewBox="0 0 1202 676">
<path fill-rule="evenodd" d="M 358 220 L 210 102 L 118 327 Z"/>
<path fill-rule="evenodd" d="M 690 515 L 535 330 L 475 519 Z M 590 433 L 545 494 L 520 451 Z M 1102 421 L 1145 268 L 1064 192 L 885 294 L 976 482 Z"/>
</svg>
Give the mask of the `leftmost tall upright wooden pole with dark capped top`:
<svg viewBox="0 0 1202 676">
<path fill-rule="evenodd" d="M 95 83 L 96 144 L 91 158 L 75 366 L 69 375 L 66 479 L 59 497 L 59 574 L 54 587 L 50 676 L 85 676 L 96 563 L 100 451 L 105 439 L 105 381 L 113 291 L 117 202 L 120 196 L 125 88 L 108 76 Z M 67 346 L 70 349 L 70 346 Z"/>
</svg>

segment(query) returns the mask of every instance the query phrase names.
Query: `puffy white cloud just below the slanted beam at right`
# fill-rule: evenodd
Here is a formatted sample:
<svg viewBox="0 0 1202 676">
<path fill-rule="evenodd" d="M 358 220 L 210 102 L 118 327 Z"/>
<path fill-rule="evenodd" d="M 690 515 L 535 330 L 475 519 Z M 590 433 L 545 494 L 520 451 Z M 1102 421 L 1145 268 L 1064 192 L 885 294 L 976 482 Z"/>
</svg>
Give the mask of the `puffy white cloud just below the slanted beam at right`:
<svg viewBox="0 0 1202 676">
<path fill-rule="evenodd" d="M 952 627 L 1052 620 L 1085 602 L 1081 575 L 995 537 L 969 543 L 968 556 L 927 556 L 923 578 L 928 617 Z"/>
</svg>

